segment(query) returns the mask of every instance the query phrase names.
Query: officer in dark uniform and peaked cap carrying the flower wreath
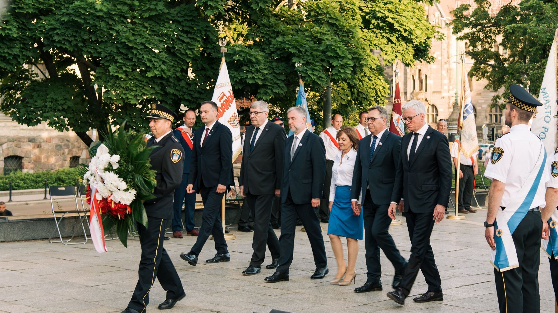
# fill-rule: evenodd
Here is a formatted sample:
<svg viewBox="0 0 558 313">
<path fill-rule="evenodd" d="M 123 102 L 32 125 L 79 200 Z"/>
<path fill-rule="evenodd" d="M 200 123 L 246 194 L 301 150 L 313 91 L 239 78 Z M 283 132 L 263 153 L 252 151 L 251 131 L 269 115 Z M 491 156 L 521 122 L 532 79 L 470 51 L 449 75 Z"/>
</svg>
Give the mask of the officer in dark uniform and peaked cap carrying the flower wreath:
<svg viewBox="0 0 558 313">
<path fill-rule="evenodd" d="M 179 141 L 172 135 L 172 122 L 177 115 L 168 107 L 151 105 L 150 129 L 153 137 L 147 146 L 156 145 L 151 151 L 151 168 L 155 170 L 157 185 L 153 190 L 155 199 L 144 203 L 148 227 L 137 223 L 141 243 L 141 261 L 138 268 L 138 283 L 132 299 L 122 313 L 145 312 L 149 303 L 149 291 L 155 277 L 167 291 L 166 300 L 157 309 L 171 309 L 186 295 L 182 282 L 171 259 L 163 248 L 165 225 L 172 218 L 174 190 L 182 180 L 182 155 L 184 151 Z"/>
</svg>

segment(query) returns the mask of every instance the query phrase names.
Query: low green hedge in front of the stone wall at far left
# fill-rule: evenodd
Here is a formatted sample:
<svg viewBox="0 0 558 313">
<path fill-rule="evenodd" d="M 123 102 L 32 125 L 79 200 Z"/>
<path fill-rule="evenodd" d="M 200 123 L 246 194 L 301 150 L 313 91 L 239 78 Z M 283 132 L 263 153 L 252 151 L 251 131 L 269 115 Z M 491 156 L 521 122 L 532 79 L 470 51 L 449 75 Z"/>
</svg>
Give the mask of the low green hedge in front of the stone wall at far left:
<svg viewBox="0 0 558 313">
<path fill-rule="evenodd" d="M 51 186 L 75 186 L 78 180 L 81 181 L 78 168 L 44 170 L 36 173 L 12 172 L 8 175 L 0 175 L 0 191 L 9 190 L 10 181 L 13 190 L 45 188 L 45 179 Z"/>
</svg>

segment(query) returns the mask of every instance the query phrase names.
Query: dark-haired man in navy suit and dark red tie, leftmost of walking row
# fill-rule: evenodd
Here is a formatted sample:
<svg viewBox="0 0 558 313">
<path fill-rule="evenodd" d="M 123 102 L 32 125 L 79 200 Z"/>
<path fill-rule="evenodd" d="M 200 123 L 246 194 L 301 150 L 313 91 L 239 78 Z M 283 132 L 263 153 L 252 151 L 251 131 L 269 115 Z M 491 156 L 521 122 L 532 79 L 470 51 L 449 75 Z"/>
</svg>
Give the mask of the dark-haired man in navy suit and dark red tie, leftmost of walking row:
<svg viewBox="0 0 558 313">
<path fill-rule="evenodd" d="M 196 129 L 194 149 L 190 163 L 187 193 L 195 192 L 194 183 L 204 203 L 201 228 L 196 243 L 188 253 L 181 253 L 182 260 L 198 264 L 198 256 L 209 234 L 213 234 L 217 254 L 205 263 L 229 262 L 230 256 L 221 224 L 221 202 L 230 182 L 233 160 L 233 136 L 227 126 L 217 121 L 218 106 L 213 101 L 201 103 L 200 119 L 205 126 Z"/>
</svg>

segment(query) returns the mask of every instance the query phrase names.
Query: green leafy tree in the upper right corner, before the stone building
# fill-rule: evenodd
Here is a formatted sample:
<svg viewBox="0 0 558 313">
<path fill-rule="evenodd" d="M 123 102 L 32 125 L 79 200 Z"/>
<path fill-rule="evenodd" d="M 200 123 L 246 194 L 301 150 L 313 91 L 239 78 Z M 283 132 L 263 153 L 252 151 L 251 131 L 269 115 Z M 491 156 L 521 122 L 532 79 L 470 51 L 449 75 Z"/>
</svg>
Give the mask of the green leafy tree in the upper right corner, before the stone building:
<svg viewBox="0 0 558 313">
<path fill-rule="evenodd" d="M 469 4 L 461 4 L 451 22 L 458 40 L 469 43 L 465 53 L 474 60 L 470 75 L 486 80 L 489 90 L 504 87 L 502 94 L 493 96 L 493 105 L 508 97 L 512 84 L 529 85 L 537 93 L 558 25 L 558 1 L 506 4 L 496 14 L 490 14 L 488 0 L 475 4 L 472 11 Z"/>
</svg>

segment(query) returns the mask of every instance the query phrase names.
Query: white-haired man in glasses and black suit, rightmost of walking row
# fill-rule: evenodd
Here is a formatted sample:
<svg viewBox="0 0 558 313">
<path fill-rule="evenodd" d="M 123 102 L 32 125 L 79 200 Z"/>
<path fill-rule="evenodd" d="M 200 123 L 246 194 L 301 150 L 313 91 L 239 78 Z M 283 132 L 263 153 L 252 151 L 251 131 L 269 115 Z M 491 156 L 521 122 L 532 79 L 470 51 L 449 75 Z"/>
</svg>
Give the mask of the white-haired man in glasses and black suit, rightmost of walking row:
<svg viewBox="0 0 558 313">
<path fill-rule="evenodd" d="M 450 149 L 445 135 L 425 121 L 422 102 L 412 100 L 403 106 L 403 121 L 411 133 L 403 136 L 400 164 L 397 167 L 389 217 L 395 219 L 397 203 L 403 195 L 407 229 L 411 239 L 411 257 L 400 286 L 388 292 L 389 299 L 403 305 L 415 278 L 422 271 L 428 290 L 415 302 L 442 301 L 440 273 L 430 246 L 434 222 L 444 218 L 451 188 Z M 401 200 L 403 201 L 403 200 Z"/>
</svg>

